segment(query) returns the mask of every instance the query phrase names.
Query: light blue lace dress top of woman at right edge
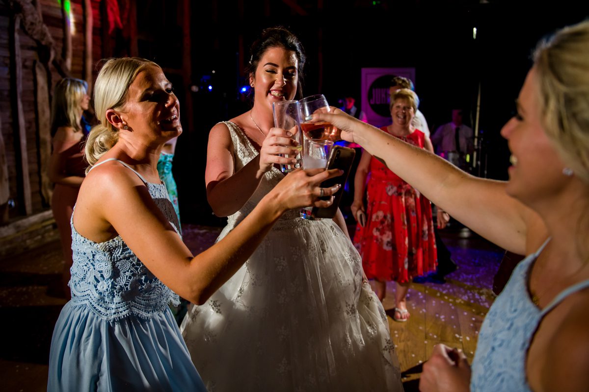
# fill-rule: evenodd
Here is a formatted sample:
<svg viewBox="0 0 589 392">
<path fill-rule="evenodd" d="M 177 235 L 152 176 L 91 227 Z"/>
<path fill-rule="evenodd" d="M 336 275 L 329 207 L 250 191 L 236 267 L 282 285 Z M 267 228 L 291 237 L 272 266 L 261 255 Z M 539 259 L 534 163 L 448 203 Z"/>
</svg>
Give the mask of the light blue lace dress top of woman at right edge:
<svg viewBox="0 0 589 392">
<path fill-rule="evenodd" d="M 515 267 L 485 316 L 472 361 L 471 391 L 531 391 L 525 376 L 525 360 L 542 317 L 571 293 L 589 287 L 589 281 L 568 287 L 542 310 L 532 303 L 528 275 L 547 242 Z"/>
</svg>

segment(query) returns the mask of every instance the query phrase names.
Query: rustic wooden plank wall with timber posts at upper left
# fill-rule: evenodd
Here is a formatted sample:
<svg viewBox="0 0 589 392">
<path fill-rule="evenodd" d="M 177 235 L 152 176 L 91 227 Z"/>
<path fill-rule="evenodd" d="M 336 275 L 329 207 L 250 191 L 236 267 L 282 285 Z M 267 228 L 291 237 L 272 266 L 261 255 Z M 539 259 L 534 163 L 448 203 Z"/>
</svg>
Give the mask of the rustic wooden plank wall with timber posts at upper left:
<svg viewBox="0 0 589 392">
<path fill-rule="evenodd" d="M 31 3 L 39 10 L 42 22 L 47 26 L 47 31 L 52 38 L 55 55 L 65 59 L 64 38 L 65 22 L 62 1 L 65 0 L 24 0 Z M 91 56 L 85 53 L 84 2 L 91 4 Z M 31 38 L 30 32 L 25 31 L 20 22 L 14 24 L 15 9 L 19 10 L 19 2 L 0 1 L 0 123 L 2 123 L 2 136 L 4 138 L 5 159 L 8 166 L 10 199 L 14 200 L 15 207 L 9 209 L 9 220 L 32 215 L 48 209 L 48 184 L 45 172 L 48 156 L 47 151 L 47 113 L 48 100 L 43 99 L 43 92 L 51 96 L 55 83 L 62 78 L 55 64 L 47 66 L 47 59 L 39 52 L 41 46 Z M 14 5 L 16 4 L 16 5 Z M 88 79 L 92 85 L 97 67 L 95 62 L 102 58 L 102 15 L 101 0 L 71 0 L 72 24 L 71 33 L 71 68 L 65 69 L 70 76 L 80 79 Z M 11 22 L 12 21 L 12 22 Z M 11 32 L 12 29 L 14 29 Z M 89 26 L 90 27 L 90 26 Z M 12 33 L 12 35 L 11 35 Z M 88 33 L 88 36 L 90 36 Z M 11 39 L 11 37 L 13 37 Z M 15 40 L 16 38 L 16 40 Z M 11 48 L 18 45 L 18 48 Z M 15 49 L 16 52 L 15 53 Z M 13 63 L 11 72 L 11 58 L 18 54 L 20 59 Z M 87 56 L 87 58 L 85 58 Z M 46 56 L 45 56 L 46 57 Z M 84 66 L 88 63 L 85 71 Z M 49 70 L 47 78 L 43 79 L 41 73 L 45 64 L 45 72 Z M 90 72 L 88 72 L 90 69 Z M 21 75 L 16 80 L 16 72 Z M 12 74 L 15 75 L 12 75 Z M 40 77 L 41 76 L 41 77 Z M 41 85 L 39 85 L 41 83 Z M 46 83 L 47 88 L 44 88 Z M 14 89 L 19 86 L 20 91 Z M 19 105 L 16 105 L 20 98 Z M 15 107 L 20 106 L 20 108 Z M 41 106 L 38 106 L 41 105 Z M 19 119 L 18 113 L 22 118 Z M 19 132 L 19 124 L 22 130 Z M 22 146 L 22 156 L 19 151 Z M 0 152 L 2 153 L 2 152 Z M 25 169 L 24 171 L 22 169 Z M 27 181 L 28 179 L 28 181 Z M 28 182 L 28 183 L 27 183 Z M 50 192 L 49 192 L 50 193 Z M 1 223 L 6 223 L 2 222 Z"/>
</svg>

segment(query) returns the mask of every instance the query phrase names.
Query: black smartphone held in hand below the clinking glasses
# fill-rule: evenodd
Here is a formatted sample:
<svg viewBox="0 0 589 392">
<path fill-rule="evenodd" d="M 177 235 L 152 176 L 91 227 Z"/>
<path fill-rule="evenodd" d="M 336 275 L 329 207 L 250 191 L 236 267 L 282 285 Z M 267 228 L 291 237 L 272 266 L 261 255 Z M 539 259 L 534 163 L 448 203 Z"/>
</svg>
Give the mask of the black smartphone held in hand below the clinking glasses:
<svg viewBox="0 0 589 392">
<path fill-rule="evenodd" d="M 339 190 L 335 193 L 335 199 L 333 200 L 332 205 L 326 208 L 319 208 L 313 207 L 311 211 L 311 216 L 316 218 L 332 218 L 337 213 L 337 207 L 339 206 L 339 202 L 342 199 L 343 195 L 343 188 L 346 185 L 346 181 L 348 180 L 348 175 L 350 173 L 350 169 L 352 168 L 352 163 L 354 162 L 354 155 L 356 154 L 356 150 L 353 148 L 342 147 L 342 146 L 333 146 L 330 154 L 329 154 L 329 161 L 327 163 L 327 169 L 342 169 L 343 174 L 339 177 L 333 177 L 328 180 L 325 180 L 321 183 L 322 188 L 329 188 L 336 184 L 342 184 Z M 329 200 L 330 196 L 323 197 L 324 200 Z"/>
</svg>

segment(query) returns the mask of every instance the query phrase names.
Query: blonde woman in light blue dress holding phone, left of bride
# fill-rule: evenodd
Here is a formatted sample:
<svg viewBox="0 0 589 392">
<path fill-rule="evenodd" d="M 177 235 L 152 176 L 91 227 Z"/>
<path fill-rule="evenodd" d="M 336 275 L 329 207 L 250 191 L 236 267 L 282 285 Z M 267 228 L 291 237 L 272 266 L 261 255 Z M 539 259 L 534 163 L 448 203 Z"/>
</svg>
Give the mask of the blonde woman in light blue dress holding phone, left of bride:
<svg viewBox="0 0 589 392">
<path fill-rule="evenodd" d="M 319 196 L 337 187 L 319 184 L 339 172 L 291 173 L 226 239 L 193 257 L 157 172 L 164 143 L 182 132 L 171 83 L 153 62 L 110 59 L 94 103 L 100 124 L 88 136 L 91 169 L 71 219 L 72 299 L 55 324 L 47 389 L 205 391 L 168 303 L 178 294 L 204 303 L 283 212 L 329 206 Z"/>
</svg>

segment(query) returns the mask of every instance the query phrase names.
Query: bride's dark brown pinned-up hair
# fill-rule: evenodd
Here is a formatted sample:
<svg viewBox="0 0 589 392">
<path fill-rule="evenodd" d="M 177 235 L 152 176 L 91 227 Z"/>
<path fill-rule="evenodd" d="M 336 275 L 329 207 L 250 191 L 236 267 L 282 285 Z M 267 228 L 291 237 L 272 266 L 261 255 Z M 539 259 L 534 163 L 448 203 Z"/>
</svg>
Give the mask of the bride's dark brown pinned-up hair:
<svg viewBox="0 0 589 392">
<path fill-rule="evenodd" d="M 256 73 L 256 69 L 260 59 L 270 48 L 284 48 L 287 51 L 293 51 L 299 62 L 297 67 L 298 81 L 296 88 L 295 99 L 303 98 L 303 68 L 305 68 L 305 49 L 302 43 L 292 32 L 288 31 L 282 26 L 264 29 L 262 34 L 250 47 L 250 62 L 246 65 L 246 75 L 252 76 Z"/>
</svg>

